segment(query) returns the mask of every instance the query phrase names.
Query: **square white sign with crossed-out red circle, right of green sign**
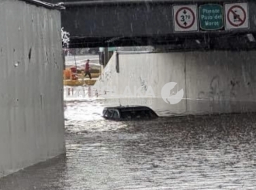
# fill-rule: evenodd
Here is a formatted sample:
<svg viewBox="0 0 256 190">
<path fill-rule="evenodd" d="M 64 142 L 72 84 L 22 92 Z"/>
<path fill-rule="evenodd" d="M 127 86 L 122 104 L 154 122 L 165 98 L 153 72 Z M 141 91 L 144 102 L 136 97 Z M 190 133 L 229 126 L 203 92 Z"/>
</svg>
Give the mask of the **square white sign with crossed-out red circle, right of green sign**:
<svg viewBox="0 0 256 190">
<path fill-rule="evenodd" d="M 249 29 L 247 3 L 225 4 L 226 29 Z"/>
</svg>

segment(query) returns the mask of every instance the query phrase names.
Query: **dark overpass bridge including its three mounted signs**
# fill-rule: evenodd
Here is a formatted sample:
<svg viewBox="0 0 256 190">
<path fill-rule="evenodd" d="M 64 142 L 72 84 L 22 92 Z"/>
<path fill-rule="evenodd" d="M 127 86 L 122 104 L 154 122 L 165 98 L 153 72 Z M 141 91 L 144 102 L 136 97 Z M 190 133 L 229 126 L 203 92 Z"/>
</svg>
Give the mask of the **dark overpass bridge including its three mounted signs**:
<svg viewBox="0 0 256 190">
<path fill-rule="evenodd" d="M 168 45 L 171 49 L 256 48 L 250 37 L 256 34 L 253 0 L 47 2 L 65 7 L 61 12 L 62 26 L 71 34 L 71 48 L 147 45 Z M 237 2 L 244 4 L 240 7 Z"/>
</svg>

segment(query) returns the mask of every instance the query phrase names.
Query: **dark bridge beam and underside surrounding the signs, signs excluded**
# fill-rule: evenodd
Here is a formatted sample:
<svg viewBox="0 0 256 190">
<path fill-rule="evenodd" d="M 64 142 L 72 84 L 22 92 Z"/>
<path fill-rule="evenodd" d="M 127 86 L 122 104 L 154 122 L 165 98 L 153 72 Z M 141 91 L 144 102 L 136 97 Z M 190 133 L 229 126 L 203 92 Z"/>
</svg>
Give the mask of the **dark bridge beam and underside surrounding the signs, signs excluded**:
<svg viewBox="0 0 256 190">
<path fill-rule="evenodd" d="M 60 0 L 49 0 L 57 3 Z M 224 5 L 217 1 L 72 1 L 62 12 L 64 30 L 70 32 L 70 48 L 106 46 L 165 46 L 170 49 L 256 49 L 248 34 L 256 37 L 256 3 L 248 1 L 249 29 L 175 32 L 172 5 Z"/>
</svg>

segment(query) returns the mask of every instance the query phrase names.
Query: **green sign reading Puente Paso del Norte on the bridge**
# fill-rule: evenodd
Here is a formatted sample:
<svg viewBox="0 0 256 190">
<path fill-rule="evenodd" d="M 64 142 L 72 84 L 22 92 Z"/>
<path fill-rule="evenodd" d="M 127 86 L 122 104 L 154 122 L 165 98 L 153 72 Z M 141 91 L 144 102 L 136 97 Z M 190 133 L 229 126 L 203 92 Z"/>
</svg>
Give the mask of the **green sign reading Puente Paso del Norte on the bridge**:
<svg viewBox="0 0 256 190">
<path fill-rule="evenodd" d="M 207 4 L 199 6 L 199 22 L 203 30 L 223 28 L 223 6 Z"/>
</svg>

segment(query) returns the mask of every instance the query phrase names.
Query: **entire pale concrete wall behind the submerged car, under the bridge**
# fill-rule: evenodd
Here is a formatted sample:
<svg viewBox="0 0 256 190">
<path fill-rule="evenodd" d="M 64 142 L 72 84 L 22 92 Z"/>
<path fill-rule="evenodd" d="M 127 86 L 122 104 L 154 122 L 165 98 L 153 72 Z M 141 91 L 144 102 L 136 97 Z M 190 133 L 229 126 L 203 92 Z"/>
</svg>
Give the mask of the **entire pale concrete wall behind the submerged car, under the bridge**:
<svg viewBox="0 0 256 190">
<path fill-rule="evenodd" d="M 256 52 L 120 53 L 119 73 L 115 54 L 95 89 L 116 87 L 116 93 L 123 95 L 126 86 L 152 87 L 155 98 L 152 104 L 146 103 L 160 115 L 255 111 L 255 60 Z M 161 98 L 161 89 L 168 82 L 177 83 L 176 92 L 184 90 L 180 103 L 171 105 Z M 140 94 L 133 96 L 135 101 L 119 97 L 127 99 L 122 104 L 146 104 L 140 101 L 145 99 Z"/>
</svg>

